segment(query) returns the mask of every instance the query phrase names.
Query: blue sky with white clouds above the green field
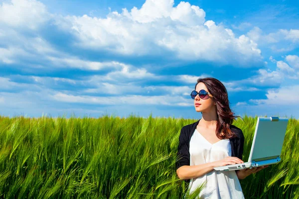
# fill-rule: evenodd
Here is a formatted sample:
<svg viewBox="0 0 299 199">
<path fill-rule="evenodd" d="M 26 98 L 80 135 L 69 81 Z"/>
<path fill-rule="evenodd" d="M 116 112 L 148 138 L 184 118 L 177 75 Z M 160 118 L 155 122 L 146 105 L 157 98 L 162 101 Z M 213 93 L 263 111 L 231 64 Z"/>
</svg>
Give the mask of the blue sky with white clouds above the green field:
<svg viewBox="0 0 299 199">
<path fill-rule="evenodd" d="M 199 77 L 298 118 L 298 1 L 0 0 L 1 115 L 199 118 Z"/>
</svg>

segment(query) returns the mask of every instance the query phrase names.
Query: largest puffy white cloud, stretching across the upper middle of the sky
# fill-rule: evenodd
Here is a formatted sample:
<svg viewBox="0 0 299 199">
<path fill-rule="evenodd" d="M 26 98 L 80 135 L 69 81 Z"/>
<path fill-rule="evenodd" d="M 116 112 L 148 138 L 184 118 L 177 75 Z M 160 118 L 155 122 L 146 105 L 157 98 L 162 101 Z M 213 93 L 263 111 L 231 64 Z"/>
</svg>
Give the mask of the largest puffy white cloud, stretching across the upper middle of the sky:
<svg viewBox="0 0 299 199">
<path fill-rule="evenodd" d="M 257 44 L 245 35 L 205 21 L 205 12 L 188 2 L 146 0 L 138 9 L 111 12 L 106 18 L 66 16 L 56 23 L 79 39 L 84 48 L 105 49 L 124 55 L 172 52 L 178 59 L 211 61 L 239 67 L 262 62 Z M 235 54 L 235 56 L 230 56 Z"/>
</svg>

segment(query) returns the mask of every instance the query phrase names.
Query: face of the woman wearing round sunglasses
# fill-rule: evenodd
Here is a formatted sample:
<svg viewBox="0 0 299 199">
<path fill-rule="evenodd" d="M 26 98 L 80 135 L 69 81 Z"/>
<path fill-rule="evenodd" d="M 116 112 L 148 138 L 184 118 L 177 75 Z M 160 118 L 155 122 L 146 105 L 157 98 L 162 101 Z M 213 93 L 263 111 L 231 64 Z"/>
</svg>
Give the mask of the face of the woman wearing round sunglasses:
<svg viewBox="0 0 299 199">
<path fill-rule="evenodd" d="M 199 92 L 200 90 L 205 90 L 209 94 L 207 94 L 203 99 L 199 98 L 199 95 L 195 97 L 194 99 L 195 110 L 197 112 L 209 112 L 212 110 L 212 108 L 215 108 L 214 99 L 212 98 L 212 95 L 206 88 L 205 84 L 203 84 L 202 82 L 198 83 L 195 89 L 196 92 Z"/>
</svg>

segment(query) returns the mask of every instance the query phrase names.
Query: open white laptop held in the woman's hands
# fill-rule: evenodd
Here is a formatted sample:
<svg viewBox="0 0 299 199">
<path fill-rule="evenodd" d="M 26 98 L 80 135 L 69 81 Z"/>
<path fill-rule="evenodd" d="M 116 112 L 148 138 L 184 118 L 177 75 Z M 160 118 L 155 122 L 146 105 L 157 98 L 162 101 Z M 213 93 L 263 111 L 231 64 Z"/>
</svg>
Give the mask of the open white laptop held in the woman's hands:
<svg viewBox="0 0 299 199">
<path fill-rule="evenodd" d="M 279 163 L 288 120 L 280 117 L 258 117 L 248 162 L 214 169 L 231 171 Z"/>
</svg>

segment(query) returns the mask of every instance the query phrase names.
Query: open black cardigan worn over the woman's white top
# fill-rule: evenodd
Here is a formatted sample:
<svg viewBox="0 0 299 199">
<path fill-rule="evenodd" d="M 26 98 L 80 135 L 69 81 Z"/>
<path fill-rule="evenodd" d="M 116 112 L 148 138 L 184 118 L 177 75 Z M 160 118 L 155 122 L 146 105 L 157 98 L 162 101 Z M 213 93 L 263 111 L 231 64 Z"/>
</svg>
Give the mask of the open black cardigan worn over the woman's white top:
<svg viewBox="0 0 299 199">
<path fill-rule="evenodd" d="M 200 119 L 199 119 L 200 120 Z M 184 165 L 190 165 L 190 153 L 189 143 L 192 134 L 194 133 L 198 121 L 183 126 L 179 135 L 179 144 L 177 147 L 177 158 L 176 169 Z M 244 146 L 244 135 L 240 128 L 230 125 L 231 131 L 233 131 L 237 137 L 230 138 L 230 144 L 232 149 L 232 157 L 237 157 L 242 160 L 243 146 Z"/>
</svg>

